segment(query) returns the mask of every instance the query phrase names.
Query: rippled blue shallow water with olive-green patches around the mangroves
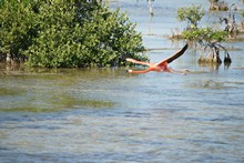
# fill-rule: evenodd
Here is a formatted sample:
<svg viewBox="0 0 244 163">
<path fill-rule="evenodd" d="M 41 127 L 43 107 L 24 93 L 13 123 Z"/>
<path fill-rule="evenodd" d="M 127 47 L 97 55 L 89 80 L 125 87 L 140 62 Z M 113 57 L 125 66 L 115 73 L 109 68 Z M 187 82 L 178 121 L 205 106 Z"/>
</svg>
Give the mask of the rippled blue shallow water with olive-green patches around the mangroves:
<svg viewBox="0 0 244 163">
<path fill-rule="evenodd" d="M 143 3 L 111 6 L 139 20 L 156 62 L 184 42 L 149 34 L 161 30 L 154 19 L 163 18 L 143 26 L 148 10 L 141 20 L 131 11 Z M 237 49 L 228 69 L 200 67 L 189 49 L 171 64 L 190 69 L 187 75 L 1 65 L 0 162 L 244 162 L 243 42 L 226 44 Z"/>
</svg>

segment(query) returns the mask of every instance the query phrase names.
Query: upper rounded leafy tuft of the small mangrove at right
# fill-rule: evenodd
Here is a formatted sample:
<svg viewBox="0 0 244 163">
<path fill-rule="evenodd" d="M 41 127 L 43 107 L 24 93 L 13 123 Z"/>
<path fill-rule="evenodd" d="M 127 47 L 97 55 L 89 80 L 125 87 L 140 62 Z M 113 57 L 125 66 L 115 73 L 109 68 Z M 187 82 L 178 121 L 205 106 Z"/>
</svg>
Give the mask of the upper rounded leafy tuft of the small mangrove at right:
<svg viewBox="0 0 244 163">
<path fill-rule="evenodd" d="M 183 7 L 177 10 L 177 19 L 186 21 L 191 29 L 197 28 L 197 22 L 204 16 L 204 10 L 201 6 Z"/>
</svg>

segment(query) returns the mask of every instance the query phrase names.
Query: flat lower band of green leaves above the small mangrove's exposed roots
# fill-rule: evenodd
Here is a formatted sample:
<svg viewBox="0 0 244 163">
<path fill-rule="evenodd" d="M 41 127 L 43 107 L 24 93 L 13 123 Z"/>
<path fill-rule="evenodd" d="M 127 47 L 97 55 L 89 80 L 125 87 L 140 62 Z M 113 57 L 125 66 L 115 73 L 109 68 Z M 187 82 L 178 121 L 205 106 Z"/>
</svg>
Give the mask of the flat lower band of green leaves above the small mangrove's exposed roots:
<svg viewBox="0 0 244 163">
<path fill-rule="evenodd" d="M 191 41 L 222 42 L 227 37 L 226 31 L 214 31 L 212 28 L 186 30 L 182 32 L 184 39 Z"/>
</svg>

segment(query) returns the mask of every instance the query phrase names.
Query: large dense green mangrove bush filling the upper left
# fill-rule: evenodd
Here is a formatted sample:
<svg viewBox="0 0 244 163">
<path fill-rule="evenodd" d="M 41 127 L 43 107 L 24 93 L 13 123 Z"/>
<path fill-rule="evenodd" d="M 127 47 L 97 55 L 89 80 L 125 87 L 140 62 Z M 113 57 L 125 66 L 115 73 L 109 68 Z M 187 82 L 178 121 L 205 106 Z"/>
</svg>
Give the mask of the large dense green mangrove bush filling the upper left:
<svg viewBox="0 0 244 163">
<path fill-rule="evenodd" d="M 148 60 L 135 24 L 98 2 L 2 0 L 0 11 L 0 53 L 26 57 L 31 67 L 118 67 L 125 58 Z"/>
</svg>

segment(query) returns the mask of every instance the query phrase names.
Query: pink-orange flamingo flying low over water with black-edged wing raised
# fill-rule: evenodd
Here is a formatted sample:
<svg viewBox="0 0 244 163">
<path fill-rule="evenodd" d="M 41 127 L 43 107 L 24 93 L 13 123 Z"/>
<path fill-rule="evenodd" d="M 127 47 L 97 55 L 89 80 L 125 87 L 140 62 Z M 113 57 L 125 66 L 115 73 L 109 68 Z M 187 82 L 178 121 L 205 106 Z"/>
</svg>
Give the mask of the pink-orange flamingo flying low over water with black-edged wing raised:
<svg viewBox="0 0 244 163">
<path fill-rule="evenodd" d="M 170 58 L 162 60 L 161 62 L 153 64 L 153 63 L 149 63 L 149 62 L 142 62 L 142 61 L 136 61 L 134 59 L 126 59 L 126 61 L 132 62 L 132 63 L 136 63 L 136 64 L 143 64 L 143 65 L 148 65 L 149 69 L 146 70 L 141 70 L 141 71 L 134 71 L 134 70 L 128 70 L 129 73 L 146 73 L 150 71 L 156 71 L 156 72 L 175 72 L 175 73 L 186 73 L 187 70 L 185 71 L 176 71 L 173 70 L 171 68 L 167 67 L 169 63 L 173 62 L 175 59 L 177 59 L 179 57 L 181 57 L 185 50 L 187 49 L 187 44 L 184 45 L 184 48 L 182 48 L 179 52 L 176 52 L 175 54 L 171 55 Z"/>
</svg>

